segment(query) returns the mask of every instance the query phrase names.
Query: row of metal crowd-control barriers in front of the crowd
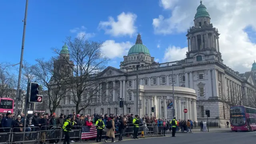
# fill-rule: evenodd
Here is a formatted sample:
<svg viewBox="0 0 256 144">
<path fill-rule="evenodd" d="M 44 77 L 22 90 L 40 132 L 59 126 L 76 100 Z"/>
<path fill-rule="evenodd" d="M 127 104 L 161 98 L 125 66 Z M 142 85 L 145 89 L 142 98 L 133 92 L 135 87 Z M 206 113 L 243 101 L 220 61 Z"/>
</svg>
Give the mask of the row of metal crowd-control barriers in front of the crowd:
<svg viewBox="0 0 256 144">
<path fill-rule="evenodd" d="M 116 133 L 115 138 L 119 138 L 120 130 L 118 126 L 115 126 Z M 131 136 L 133 134 L 134 125 L 127 124 L 127 127 L 122 130 L 122 136 Z M 163 135 L 163 126 L 157 126 L 155 124 L 139 124 L 138 136 L 144 131 L 144 135 L 160 134 Z M 102 137 L 106 136 L 107 128 L 104 128 Z M 70 132 L 70 139 L 75 142 L 81 142 L 82 126 L 73 126 Z M 23 142 L 34 142 L 34 144 L 50 142 L 58 143 L 61 142 L 65 137 L 65 134 L 61 126 L 50 125 L 41 127 L 27 127 L 27 128 L 0 128 L 0 144 L 16 144 Z M 90 139 L 95 140 L 96 138 Z"/>
</svg>

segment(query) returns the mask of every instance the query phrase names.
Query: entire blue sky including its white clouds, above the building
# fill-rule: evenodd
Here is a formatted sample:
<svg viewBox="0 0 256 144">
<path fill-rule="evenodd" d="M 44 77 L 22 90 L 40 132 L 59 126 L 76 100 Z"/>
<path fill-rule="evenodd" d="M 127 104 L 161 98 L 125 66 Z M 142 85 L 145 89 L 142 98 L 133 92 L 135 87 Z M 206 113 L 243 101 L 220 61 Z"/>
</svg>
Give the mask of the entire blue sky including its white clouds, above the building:
<svg viewBox="0 0 256 144">
<path fill-rule="evenodd" d="M 202 0 L 220 32 L 224 64 L 249 71 L 256 59 L 256 2 Z M 1 2 L 0 62 L 20 61 L 26 0 Z M 159 62 L 185 58 L 186 30 L 193 26 L 200 0 L 29 0 L 24 60 L 54 56 L 66 36 L 86 34 L 104 42 L 110 66 L 119 68 L 140 32 L 143 44 Z M 119 19 L 118 19 L 119 18 Z M 158 46 L 159 45 L 159 46 Z"/>
</svg>

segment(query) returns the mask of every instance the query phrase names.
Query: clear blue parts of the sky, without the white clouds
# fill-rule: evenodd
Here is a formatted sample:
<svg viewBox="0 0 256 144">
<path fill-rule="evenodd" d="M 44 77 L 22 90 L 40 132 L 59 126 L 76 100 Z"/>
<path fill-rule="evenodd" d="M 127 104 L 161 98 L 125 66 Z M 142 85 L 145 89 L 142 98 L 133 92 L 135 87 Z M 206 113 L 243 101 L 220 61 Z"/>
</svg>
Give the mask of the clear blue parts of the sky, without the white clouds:
<svg viewBox="0 0 256 144">
<path fill-rule="evenodd" d="M 20 60 L 25 3 L 26 0 L 6 0 L 1 4 L 1 62 L 16 64 Z M 122 12 L 137 15 L 134 23 L 137 30 L 132 36 L 111 36 L 98 28 L 100 21 L 108 21 L 109 16 L 116 20 Z M 90 40 L 103 42 L 115 40 L 135 43 L 136 35 L 140 32 L 151 55 L 161 61 L 168 45 L 185 46 L 186 37 L 185 33 L 155 35 L 152 20 L 159 14 L 170 16 L 171 13 L 164 11 L 158 0 L 29 0 L 24 60 L 33 64 L 36 58 L 50 58 L 54 55 L 50 48 L 61 48 L 66 36 L 76 36 L 70 30 L 84 26 L 86 33 L 94 33 Z M 122 58 L 112 58 L 114 62 L 110 62 L 110 65 L 118 67 L 121 60 Z"/>
</svg>

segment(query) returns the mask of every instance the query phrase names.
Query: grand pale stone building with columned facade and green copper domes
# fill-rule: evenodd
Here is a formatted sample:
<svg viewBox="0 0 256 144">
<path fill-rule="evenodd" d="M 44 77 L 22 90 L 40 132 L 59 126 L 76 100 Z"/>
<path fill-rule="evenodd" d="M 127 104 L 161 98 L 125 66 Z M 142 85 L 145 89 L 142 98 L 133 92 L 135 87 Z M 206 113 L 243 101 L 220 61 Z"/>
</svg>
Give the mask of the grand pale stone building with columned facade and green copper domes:
<svg viewBox="0 0 256 144">
<path fill-rule="evenodd" d="M 119 109 L 120 98 L 125 100 L 124 113 L 135 113 L 132 90 L 136 89 L 137 65 L 139 65 L 138 82 L 142 86 L 172 86 L 173 84 L 177 87 L 194 89 L 197 95 L 194 120 L 206 120 L 205 110 L 210 110 L 209 122 L 224 127 L 229 120 L 230 106 L 253 106 L 250 98 L 255 98 L 256 63 L 254 62 L 251 72 L 244 74 L 239 74 L 224 64 L 218 41 L 220 34 L 218 29 L 210 23 L 210 15 L 202 2 L 197 8 L 194 26 L 188 29 L 186 36 L 188 39 L 186 58 L 159 64 L 154 62 L 154 57 L 142 44 L 141 36 L 138 34 L 136 44 L 129 50 L 128 55 L 124 56 L 124 61 L 120 62 L 120 68 L 109 66 L 102 72 L 108 74 L 108 82 L 101 84 L 106 88 L 102 94 L 109 98 L 96 100 L 83 113 L 122 114 L 122 109 Z M 64 51 L 67 51 L 66 46 L 64 47 Z M 189 105 L 193 102 L 190 100 L 181 101 L 181 109 L 190 110 Z M 148 106 L 145 106 L 146 113 Z M 72 101 L 66 97 L 56 113 L 69 114 L 75 110 L 74 107 Z M 180 116 L 177 118 L 184 118 L 182 115 L 177 114 Z M 187 118 L 193 119 L 192 116 Z"/>
</svg>

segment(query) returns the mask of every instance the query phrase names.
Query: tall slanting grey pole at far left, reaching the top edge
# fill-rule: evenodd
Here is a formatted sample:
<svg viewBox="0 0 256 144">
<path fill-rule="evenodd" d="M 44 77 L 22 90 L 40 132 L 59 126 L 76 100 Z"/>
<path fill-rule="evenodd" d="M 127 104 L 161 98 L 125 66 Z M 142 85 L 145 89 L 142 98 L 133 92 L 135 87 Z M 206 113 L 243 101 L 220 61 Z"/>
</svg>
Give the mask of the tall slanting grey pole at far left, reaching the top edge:
<svg viewBox="0 0 256 144">
<path fill-rule="evenodd" d="M 23 51 L 24 51 L 24 42 L 25 42 L 25 34 L 26 34 L 27 11 L 28 11 L 28 0 L 26 0 L 26 8 L 25 8 L 23 36 L 22 36 L 22 44 L 21 44 L 21 55 L 20 55 L 20 69 L 19 69 L 18 86 L 17 86 L 17 92 L 16 92 L 16 103 L 15 103 L 14 120 L 16 120 L 17 115 L 18 115 L 20 80 L 21 80 L 21 71 L 22 71 L 22 62 L 23 62 Z"/>
</svg>

